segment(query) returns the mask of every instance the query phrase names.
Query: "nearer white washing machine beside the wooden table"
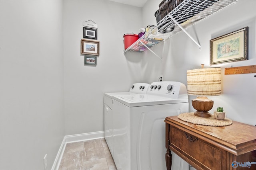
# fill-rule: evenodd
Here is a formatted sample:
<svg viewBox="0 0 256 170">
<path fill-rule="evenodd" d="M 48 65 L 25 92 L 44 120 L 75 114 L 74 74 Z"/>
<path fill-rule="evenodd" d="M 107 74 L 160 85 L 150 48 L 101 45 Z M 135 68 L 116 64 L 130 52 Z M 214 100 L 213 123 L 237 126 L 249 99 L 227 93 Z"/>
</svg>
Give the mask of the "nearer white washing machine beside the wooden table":
<svg viewBox="0 0 256 170">
<path fill-rule="evenodd" d="M 114 162 L 118 170 L 166 170 L 165 123 L 188 112 L 186 86 L 153 82 L 146 94 L 113 96 Z M 172 170 L 188 163 L 172 152 Z"/>
</svg>

